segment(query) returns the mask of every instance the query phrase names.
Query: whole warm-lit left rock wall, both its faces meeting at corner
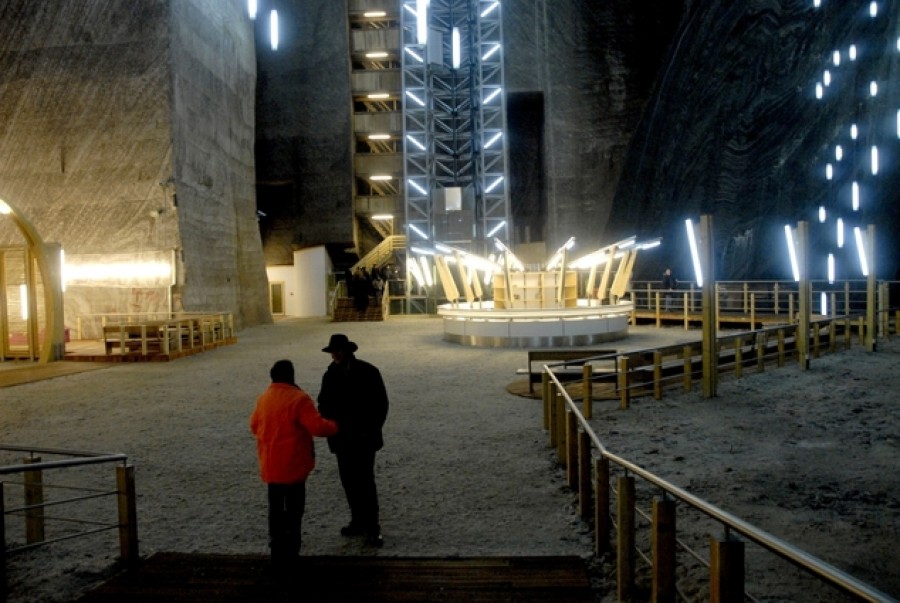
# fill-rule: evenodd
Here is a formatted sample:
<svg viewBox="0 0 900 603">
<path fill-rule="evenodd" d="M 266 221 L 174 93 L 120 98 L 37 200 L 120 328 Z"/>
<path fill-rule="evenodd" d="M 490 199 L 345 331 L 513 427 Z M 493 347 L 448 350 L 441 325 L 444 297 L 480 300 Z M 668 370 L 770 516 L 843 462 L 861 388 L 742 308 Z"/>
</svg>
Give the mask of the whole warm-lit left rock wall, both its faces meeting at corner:
<svg viewBox="0 0 900 603">
<path fill-rule="evenodd" d="M 175 310 L 271 320 L 255 215 L 252 28 L 240 0 L 0 5 L 0 198 L 70 258 L 176 259 Z M 3 244 L 21 244 L 0 224 Z M 166 311 L 73 287 L 66 323 Z"/>
</svg>

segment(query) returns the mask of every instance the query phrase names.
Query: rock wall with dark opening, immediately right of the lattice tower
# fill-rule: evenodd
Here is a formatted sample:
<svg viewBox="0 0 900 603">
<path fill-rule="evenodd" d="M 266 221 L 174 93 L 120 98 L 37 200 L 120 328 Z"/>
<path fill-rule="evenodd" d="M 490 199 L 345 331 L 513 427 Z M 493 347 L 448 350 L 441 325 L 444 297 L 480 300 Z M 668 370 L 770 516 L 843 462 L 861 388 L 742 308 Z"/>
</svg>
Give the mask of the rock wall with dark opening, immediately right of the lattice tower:
<svg viewBox="0 0 900 603">
<path fill-rule="evenodd" d="M 503 3 L 518 242 L 610 243 L 606 223 L 680 0 Z M 523 232 L 528 228 L 528 233 Z"/>
</svg>

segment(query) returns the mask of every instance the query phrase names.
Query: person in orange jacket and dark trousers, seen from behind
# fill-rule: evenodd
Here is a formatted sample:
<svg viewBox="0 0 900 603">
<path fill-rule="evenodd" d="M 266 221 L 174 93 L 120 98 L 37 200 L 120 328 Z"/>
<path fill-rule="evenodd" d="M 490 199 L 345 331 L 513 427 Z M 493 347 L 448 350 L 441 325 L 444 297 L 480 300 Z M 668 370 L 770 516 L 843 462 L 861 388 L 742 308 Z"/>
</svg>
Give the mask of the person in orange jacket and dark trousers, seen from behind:
<svg viewBox="0 0 900 603">
<path fill-rule="evenodd" d="M 284 569 L 300 554 L 306 478 L 316 464 L 313 437 L 333 436 L 338 425 L 323 418 L 294 383 L 290 360 L 276 362 L 269 375 L 272 383 L 256 400 L 250 431 L 256 436 L 260 477 L 268 486 L 272 563 Z"/>
</svg>

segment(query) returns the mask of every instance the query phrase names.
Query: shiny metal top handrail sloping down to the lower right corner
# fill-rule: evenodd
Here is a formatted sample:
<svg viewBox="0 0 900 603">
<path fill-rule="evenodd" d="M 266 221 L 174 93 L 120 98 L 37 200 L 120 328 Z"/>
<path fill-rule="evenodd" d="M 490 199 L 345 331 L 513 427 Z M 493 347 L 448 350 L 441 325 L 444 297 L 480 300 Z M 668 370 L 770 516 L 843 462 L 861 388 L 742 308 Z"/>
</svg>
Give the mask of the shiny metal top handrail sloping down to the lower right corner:
<svg viewBox="0 0 900 603">
<path fill-rule="evenodd" d="M 572 397 L 568 394 L 565 387 L 563 387 L 562 383 L 560 383 L 556 375 L 553 374 L 553 371 L 549 370 L 546 365 L 545 369 L 547 369 L 549 378 L 555 384 L 556 391 L 563 397 L 568 409 L 571 412 L 575 413 L 574 416 L 576 417 L 578 424 L 584 430 L 584 433 L 587 434 L 587 436 L 590 438 L 591 442 L 597 448 L 602 458 L 615 463 L 627 472 L 641 477 L 646 482 L 656 486 L 657 488 L 660 488 L 661 490 L 685 502 L 686 504 L 697 509 L 708 517 L 711 517 L 719 523 L 728 526 L 728 528 L 742 534 L 743 536 L 759 544 L 763 548 L 775 553 L 776 555 L 779 555 L 787 561 L 790 561 L 799 568 L 815 576 L 818 576 L 829 584 L 840 588 L 850 595 L 854 595 L 862 600 L 873 602 L 894 601 L 894 599 L 890 596 L 851 576 L 843 570 L 825 561 L 822 561 L 821 559 L 793 546 L 792 544 L 784 540 L 781 540 L 776 536 L 773 536 L 772 534 L 769 534 L 764 530 L 761 530 L 747 523 L 746 521 L 716 507 L 711 503 L 708 503 L 698 496 L 691 494 L 687 490 L 684 490 L 683 488 L 662 479 L 654 473 L 647 471 L 643 467 L 632 463 L 626 458 L 610 452 L 606 448 L 606 446 L 603 445 L 603 442 L 594 432 L 593 428 L 590 426 L 587 419 L 585 419 L 584 415 L 582 415 L 578 406 L 572 400 Z"/>
</svg>

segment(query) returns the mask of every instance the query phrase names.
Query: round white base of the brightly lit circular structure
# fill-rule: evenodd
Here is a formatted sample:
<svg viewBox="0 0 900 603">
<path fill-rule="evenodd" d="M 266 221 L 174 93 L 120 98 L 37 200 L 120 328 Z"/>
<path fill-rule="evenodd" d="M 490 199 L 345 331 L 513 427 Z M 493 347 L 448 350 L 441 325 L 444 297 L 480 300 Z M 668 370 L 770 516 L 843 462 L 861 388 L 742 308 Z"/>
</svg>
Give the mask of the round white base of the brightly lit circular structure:
<svg viewBox="0 0 900 603">
<path fill-rule="evenodd" d="M 548 348 L 592 345 L 628 336 L 631 302 L 550 310 L 494 309 L 493 302 L 438 306 L 444 339 L 476 347 Z"/>
</svg>

